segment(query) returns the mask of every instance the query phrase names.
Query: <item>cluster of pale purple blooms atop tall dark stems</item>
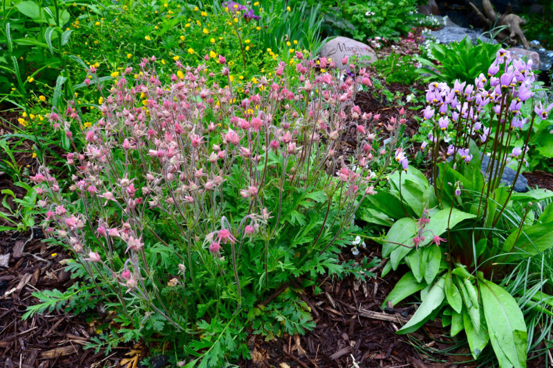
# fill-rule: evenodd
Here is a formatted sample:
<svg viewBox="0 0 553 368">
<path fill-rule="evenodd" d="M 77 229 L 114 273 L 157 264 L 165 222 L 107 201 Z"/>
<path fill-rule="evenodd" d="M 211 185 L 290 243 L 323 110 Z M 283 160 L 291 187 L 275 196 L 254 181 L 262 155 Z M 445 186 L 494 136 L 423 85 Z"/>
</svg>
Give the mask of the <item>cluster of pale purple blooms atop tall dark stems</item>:
<svg viewBox="0 0 553 368">
<path fill-rule="evenodd" d="M 508 136 L 529 123 L 521 113 L 521 107 L 534 95 L 533 82 L 532 59 L 527 62 L 512 60 L 502 48 L 498 50 L 487 75 L 480 74 L 474 79 L 474 84 L 456 81 L 451 87 L 446 83 L 431 83 L 426 95 L 428 105 L 422 115 L 424 119 L 437 121 L 437 124 L 422 148 L 429 144 L 435 146 L 441 139 L 449 142 L 447 130 L 453 127 L 457 132 L 456 139 L 449 144 L 447 155 L 470 162 L 472 155 L 463 146 L 468 144 L 469 139 L 487 145 L 492 131 Z M 551 108 L 553 104 L 544 108 L 539 102 L 534 112 L 541 119 L 546 119 Z M 487 113 L 491 116 L 489 126 L 482 124 Z M 515 147 L 509 157 L 523 159 L 525 151 L 527 147 Z M 504 155 L 507 157 L 507 153 Z"/>
</svg>

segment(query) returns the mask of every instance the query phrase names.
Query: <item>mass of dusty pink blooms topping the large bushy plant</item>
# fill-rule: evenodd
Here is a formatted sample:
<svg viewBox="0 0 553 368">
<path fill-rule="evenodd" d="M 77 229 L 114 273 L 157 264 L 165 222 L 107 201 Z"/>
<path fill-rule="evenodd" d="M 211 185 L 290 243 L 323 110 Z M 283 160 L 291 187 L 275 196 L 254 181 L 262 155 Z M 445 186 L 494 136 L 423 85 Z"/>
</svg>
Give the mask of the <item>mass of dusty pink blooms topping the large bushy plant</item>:
<svg viewBox="0 0 553 368">
<path fill-rule="evenodd" d="M 294 66 L 281 63 L 272 79 L 261 77 L 238 91 L 225 58 L 220 60 L 219 72 L 177 62 L 183 77 L 173 75 L 173 82 L 164 85 L 151 57 L 142 59 L 134 78 L 132 68 L 126 68 L 115 80 L 100 106 L 101 119 L 83 132 L 84 150 L 66 155 L 73 171 L 71 191 L 84 206 L 80 213 L 64 209 L 69 207 L 66 197 L 47 168 L 32 177 L 40 205 L 48 211 L 48 233 L 66 240 L 77 258 L 89 262 L 102 262 L 100 247 L 109 259 L 113 253 L 126 254 L 123 269 L 102 264 L 129 289 L 140 285 L 140 270 L 147 263 L 144 233 L 151 229 L 144 213 L 171 219 L 182 243 L 190 247 L 205 239 L 197 251 L 221 258 L 225 246 L 245 236 L 274 235 L 282 220 L 281 203 L 267 208 L 265 198 L 274 186 L 282 190 L 288 182 L 310 191 L 315 190 L 312 183 L 325 183 L 328 193 L 345 202 L 340 206 L 348 216 L 355 213 L 360 196 L 375 193 L 369 173 L 379 157 L 373 154 L 375 133 L 368 124 L 377 117 L 362 113 L 353 102 L 359 85 L 370 84 L 366 70 L 341 81 L 319 73 L 315 61 L 300 54 Z M 319 62 L 333 66 L 326 59 Z M 53 111 L 50 122 L 73 139 L 68 126 L 79 122 L 79 115 L 70 104 L 65 116 Z M 350 126 L 359 143 L 345 157 L 342 137 Z M 239 187 L 229 180 L 236 172 L 242 175 Z M 244 202 L 247 212 L 240 226 L 221 227 L 210 220 L 227 215 L 229 198 Z M 86 242 L 88 226 L 93 243 Z"/>
</svg>

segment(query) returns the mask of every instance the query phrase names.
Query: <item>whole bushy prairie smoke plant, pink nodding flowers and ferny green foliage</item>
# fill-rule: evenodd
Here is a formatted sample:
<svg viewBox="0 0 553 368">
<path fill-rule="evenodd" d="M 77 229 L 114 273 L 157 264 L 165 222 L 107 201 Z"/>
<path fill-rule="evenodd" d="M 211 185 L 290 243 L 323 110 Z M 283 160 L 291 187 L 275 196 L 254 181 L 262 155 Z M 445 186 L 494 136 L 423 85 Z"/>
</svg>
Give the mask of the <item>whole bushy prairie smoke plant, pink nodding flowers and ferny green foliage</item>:
<svg viewBox="0 0 553 368">
<path fill-rule="evenodd" d="M 350 272 L 335 253 L 351 244 L 357 208 L 377 194 L 395 150 L 379 148 L 366 128 L 372 117 L 353 104 L 365 70 L 341 81 L 301 55 L 238 93 L 220 60 L 218 74 L 187 66 L 183 79 L 164 86 L 142 59 L 136 79 L 123 75 L 104 88 L 102 117 L 73 137 L 85 146 L 67 154 L 72 193 L 59 191 L 46 166 L 32 177 L 44 226 L 73 251 L 104 302 L 135 329 L 135 313 L 153 318 L 150 333 L 177 333 L 209 365 L 247 355 L 243 323 L 260 316 L 256 306 L 274 289 Z M 62 128 L 77 117 L 50 119 Z M 358 143 L 346 154 L 341 137 L 350 126 Z M 291 303 L 258 317 L 254 331 L 312 327 L 306 304 Z M 240 348 L 223 347 L 229 331 Z M 203 337 L 214 334 L 223 339 Z"/>
</svg>

